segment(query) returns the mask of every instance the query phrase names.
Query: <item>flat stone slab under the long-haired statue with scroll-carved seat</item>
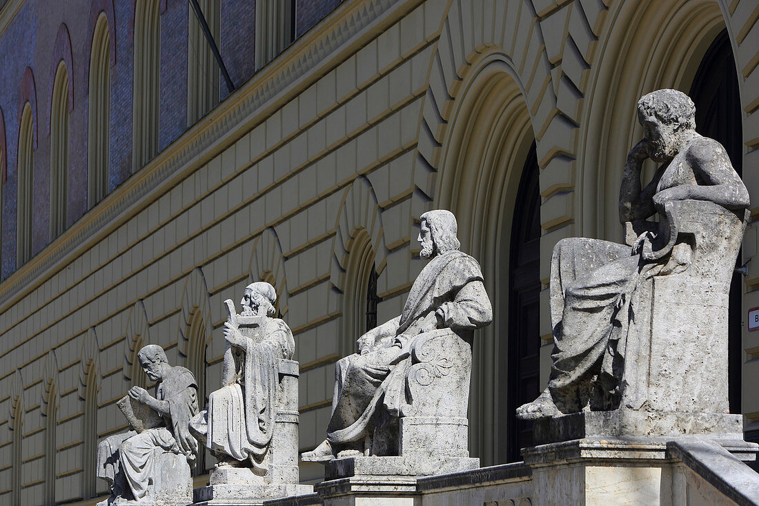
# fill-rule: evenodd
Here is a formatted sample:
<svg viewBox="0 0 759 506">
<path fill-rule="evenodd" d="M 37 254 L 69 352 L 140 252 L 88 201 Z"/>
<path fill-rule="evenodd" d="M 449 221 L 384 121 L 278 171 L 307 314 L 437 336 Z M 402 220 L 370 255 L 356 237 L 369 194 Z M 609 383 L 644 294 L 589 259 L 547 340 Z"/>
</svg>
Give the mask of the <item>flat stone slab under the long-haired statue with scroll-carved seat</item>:
<svg viewBox="0 0 759 506">
<path fill-rule="evenodd" d="M 335 459 L 326 465 L 326 480 L 369 476 L 391 479 L 392 476 L 432 476 L 458 473 L 480 467 L 480 459 L 411 454 L 401 457 L 347 457 Z"/>
</svg>

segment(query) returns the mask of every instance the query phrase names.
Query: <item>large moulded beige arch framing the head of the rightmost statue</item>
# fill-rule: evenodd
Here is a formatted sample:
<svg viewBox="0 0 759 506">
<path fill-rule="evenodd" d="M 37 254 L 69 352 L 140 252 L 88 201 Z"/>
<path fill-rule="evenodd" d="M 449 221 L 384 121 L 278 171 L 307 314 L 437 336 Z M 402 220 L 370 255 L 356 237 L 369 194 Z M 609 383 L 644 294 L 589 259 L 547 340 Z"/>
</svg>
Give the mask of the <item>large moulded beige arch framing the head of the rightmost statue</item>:
<svg viewBox="0 0 759 506">
<path fill-rule="evenodd" d="M 619 241 L 616 198 L 603 196 L 618 194 L 625 157 L 642 138 L 635 104 L 660 88 L 688 93 L 704 53 L 726 24 L 714 0 L 619 2 L 608 17 L 577 143 L 575 215 L 578 235 Z"/>
</svg>

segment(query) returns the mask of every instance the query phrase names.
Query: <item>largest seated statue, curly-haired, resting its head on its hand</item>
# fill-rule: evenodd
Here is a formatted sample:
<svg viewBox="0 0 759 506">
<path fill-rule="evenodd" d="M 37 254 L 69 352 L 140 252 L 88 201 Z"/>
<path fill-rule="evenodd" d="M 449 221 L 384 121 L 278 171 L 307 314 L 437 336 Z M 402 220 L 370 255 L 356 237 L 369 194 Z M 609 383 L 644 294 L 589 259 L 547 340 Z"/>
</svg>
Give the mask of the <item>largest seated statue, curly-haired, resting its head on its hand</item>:
<svg viewBox="0 0 759 506">
<path fill-rule="evenodd" d="M 644 138 L 628 154 L 619 197 L 628 244 L 574 238 L 554 248 L 550 381 L 519 418 L 657 412 L 625 432 L 657 435 L 714 423 L 690 417 L 679 426 L 682 413 L 727 413 L 727 299 L 749 199 L 694 118 L 676 90 L 638 102 Z M 662 165 L 642 188 L 646 159 Z M 657 213 L 658 223 L 647 221 Z"/>
</svg>

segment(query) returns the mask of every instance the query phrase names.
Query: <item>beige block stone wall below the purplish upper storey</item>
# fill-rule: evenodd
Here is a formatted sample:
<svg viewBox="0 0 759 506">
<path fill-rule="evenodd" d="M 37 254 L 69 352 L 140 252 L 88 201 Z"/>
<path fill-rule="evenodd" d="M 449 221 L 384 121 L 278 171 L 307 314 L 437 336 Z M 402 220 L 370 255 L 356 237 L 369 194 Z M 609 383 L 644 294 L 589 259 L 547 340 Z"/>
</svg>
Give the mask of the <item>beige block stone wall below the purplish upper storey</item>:
<svg viewBox="0 0 759 506">
<path fill-rule="evenodd" d="M 748 170 L 759 162 L 756 6 L 344 2 L 0 284 L 0 461 L 20 462 L 19 475 L 0 468 L 0 502 L 15 487 L 24 502 L 41 503 L 41 476 L 52 465 L 57 489 L 82 489 L 93 438 L 124 429 L 115 401 L 125 384 L 145 381 L 133 378 L 140 343 L 164 346 L 206 393 L 216 390 L 223 343 L 206 335 L 218 334 L 221 302 L 249 280 L 287 295 L 282 315 L 301 363 L 301 450 L 309 450 L 322 439 L 334 362 L 345 354 L 343 297 L 356 282 L 345 267 L 357 231 L 370 232 L 379 321 L 400 312 L 421 268 L 414 218 L 436 207 L 457 213 L 462 248 L 480 259 L 494 308 L 508 308 L 505 223 L 533 138 L 546 199 L 541 251 L 566 236 L 619 241 L 612 168 L 640 136 L 627 111 L 641 90 L 687 88 L 722 27 L 737 57 L 745 182 L 757 205 L 759 179 Z M 480 133 L 465 136 L 473 128 Z M 752 229 L 744 261 L 757 251 Z M 542 258 L 547 280 L 550 257 Z M 744 315 L 759 306 L 757 280 L 754 259 Z M 502 311 L 474 346 L 470 448 L 483 464 L 505 448 Z M 759 378 L 759 362 L 748 362 L 757 335 L 744 330 L 745 385 Z M 45 373 L 51 351 L 56 375 Z M 543 346 L 543 384 L 549 353 Z M 43 401 L 46 392 L 53 396 Z M 759 397 L 744 392 L 746 429 L 759 429 Z M 45 451 L 49 404 L 58 406 L 55 464 Z M 14 426 L 19 432 L 7 430 Z M 319 473 L 304 467 L 301 476 Z"/>
</svg>

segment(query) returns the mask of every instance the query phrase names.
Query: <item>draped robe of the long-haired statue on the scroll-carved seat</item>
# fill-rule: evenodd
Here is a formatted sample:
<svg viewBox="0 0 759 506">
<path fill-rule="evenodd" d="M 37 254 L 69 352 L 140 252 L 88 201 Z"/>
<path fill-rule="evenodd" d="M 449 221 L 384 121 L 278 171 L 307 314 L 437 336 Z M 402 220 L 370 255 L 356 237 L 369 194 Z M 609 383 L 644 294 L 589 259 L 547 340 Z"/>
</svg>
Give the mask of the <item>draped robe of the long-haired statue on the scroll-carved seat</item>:
<svg viewBox="0 0 759 506">
<path fill-rule="evenodd" d="M 398 414 L 405 401 L 405 372 L 414 337 L 437 327 L 435 312 L 445 302 L 450 326 L 462 337 L 492 319 L 480 265 L 461 251 L 437 255 L 420 272 L 398 320 L 392 346 L 339 360 L 335 400 L 327 425 L 331 444 L 360 441 L 379 403 Z"/>
</svg>

